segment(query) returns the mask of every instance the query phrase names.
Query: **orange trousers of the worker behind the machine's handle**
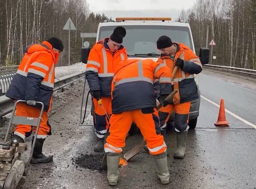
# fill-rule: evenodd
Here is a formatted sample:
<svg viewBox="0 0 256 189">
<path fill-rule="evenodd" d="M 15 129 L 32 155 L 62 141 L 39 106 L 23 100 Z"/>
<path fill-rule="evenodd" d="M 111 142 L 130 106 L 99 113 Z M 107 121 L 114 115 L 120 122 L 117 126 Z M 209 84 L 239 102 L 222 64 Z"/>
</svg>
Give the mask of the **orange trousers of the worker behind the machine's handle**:
<svg viewBox="0 0 256 189">
<path fill-rule="evenodd" d="M 35 108 L 33 106 L 24 104 L 22 102 L 19 102 L 16 106 L 16 116 L 28 116 L 33 118 L 39 118 L 41 110 L 38 108 Z M 32 133 L 32 127 L 31 125 L 20 125 L 18 124 L 14 134 L 20 136 L 21 138 L 25 139 L 29 137 Z M 33 128 L 33 132 L 36 132 L 36 126 Z M 48 115 L 47 112 L 43 111 L 42 113 L 42 119 L 39 125 L 38 129 L 38 135 L 37 138 L 46 138 L 47 135 L 52 135 L 51 132 L 51 126 L 48 122 Z"/>
</svg>

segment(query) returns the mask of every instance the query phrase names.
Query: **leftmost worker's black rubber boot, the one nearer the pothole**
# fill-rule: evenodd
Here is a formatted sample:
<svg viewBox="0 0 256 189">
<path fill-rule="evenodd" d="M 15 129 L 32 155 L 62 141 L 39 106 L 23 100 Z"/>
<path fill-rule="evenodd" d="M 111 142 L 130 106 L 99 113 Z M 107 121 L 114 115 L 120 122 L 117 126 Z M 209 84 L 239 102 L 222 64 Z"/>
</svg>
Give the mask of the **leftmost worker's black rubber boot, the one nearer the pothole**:
<svg viewBox="0 0 256 189">
<path fill-rule="evenodd" d="M 34 140 L 34 136 L 33 136 L 32 141 L 31 141 L 32 145 L 33 145 L 33 140 Z M 33 156 L 32 156 L 31 161 L 30 161 L 31 164 L 48 163 L 48 162 L 53 160 L 53 156 L 44 155 L 42 153 L 42 146 L 44 144 L 44 141 L 45 141 L 45 138 L 44 139 L 42 139 L 42 138 L 37 138 L 36 139 Z"/>
</svg>

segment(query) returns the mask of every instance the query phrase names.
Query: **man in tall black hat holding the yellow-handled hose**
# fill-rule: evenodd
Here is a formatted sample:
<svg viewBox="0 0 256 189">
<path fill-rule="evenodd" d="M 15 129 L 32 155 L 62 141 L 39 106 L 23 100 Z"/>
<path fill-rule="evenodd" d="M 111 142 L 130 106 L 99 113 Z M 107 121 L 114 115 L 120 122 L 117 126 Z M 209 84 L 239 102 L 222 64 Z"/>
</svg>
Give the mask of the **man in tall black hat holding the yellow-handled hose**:
<svg viewBox="0 0 256 189">
<path fill-rule="evenodd" d="M 125 36 L 125 28 L 116 27 L 110 37 L 93 46 L 88 57 L 86 79 L 93 97 L 94 131 L 97 136 L 94 151 L 96 152 L 104 150 L 104 139 L 109 127 L 107 117 L 112 115 L 110 90 L 113 70 L 121 60 L 127 59 L 126 48 L 121 45 Z M 102 106 L 105 110 L 99 105 L 99 99 L 102 100 Z"/>
</svg>

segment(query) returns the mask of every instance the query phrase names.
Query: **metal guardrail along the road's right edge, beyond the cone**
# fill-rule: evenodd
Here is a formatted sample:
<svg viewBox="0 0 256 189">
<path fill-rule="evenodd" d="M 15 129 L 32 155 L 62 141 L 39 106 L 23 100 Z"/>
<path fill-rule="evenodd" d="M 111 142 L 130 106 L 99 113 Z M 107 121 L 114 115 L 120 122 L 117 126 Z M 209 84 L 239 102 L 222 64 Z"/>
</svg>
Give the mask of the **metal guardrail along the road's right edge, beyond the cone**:
<svg viewBox="0 0 256 189">
<path fill-rule="evenodd" d="M 210 68 L 210 69 L 221 70 L 221 71 L 229 71 L 229 72 L 232 72 L 232 73 L 245 74 L 249 77 L 251 77 L 251 76 L 256 77 L 256 70 L 229 67 L 229 66 L 209 65 L 209 64 L 205 64 L 203 66 L 206 67 L 206 68 Z"/>
</svg>

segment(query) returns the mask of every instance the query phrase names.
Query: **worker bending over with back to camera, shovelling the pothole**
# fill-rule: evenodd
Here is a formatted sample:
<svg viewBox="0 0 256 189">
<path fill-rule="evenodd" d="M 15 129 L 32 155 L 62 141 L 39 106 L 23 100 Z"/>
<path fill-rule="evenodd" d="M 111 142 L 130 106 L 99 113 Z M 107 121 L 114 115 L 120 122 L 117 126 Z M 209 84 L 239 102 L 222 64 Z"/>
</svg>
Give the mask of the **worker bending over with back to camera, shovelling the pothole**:
<svg viewBox="0 0 256 189">
<path fill-rule="evenodd" d="M 110 185 L 117 185 L 120 155 L 133 121 L 148 144 L 149 153 L 155 158 L 161 183 L 169 183 L 166 144 L 160 134 L 153 82 L 160 80 L 162 101 L 171 93 L 170 77 L 170 69 L 152 59 L 127 59 L 117 65 L 111 87 L 113 114 L 110 118 L 110 135 L 104 144 Z"/>
</svg>

